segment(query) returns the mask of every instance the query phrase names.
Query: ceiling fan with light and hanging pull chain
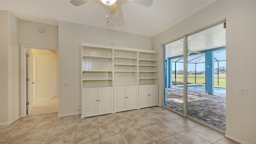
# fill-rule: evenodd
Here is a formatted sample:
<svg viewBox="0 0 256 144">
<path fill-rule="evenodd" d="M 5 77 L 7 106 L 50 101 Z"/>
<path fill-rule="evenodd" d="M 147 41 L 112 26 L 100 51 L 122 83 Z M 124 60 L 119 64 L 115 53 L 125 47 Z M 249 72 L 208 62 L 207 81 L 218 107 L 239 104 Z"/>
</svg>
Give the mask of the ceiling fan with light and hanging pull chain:
<svg viewBox="0 0 256 144">
<path fill-rule="evenodd" d="M 70 0 L 69 2 L 73 4 L 74 6 L 81 6 L 82 4 L 85 4 L 87 2 L 90 2 L 93 0 Z M 117 0 L 100 0 L 103 4 L 107 5 L 107 15 L 106 15 L 106 22 L 108 23 L 110 19 L 108 18 L 108 9 L 110 10 L 110 14 L 114 21 L 119 20 L 119 14 L 116 7 L 116 1 Z M 153 0 L 128 0 L 130 2 L 134 2 L 137 4 L 140 4 L 142 6 L 150 7 L 153 3 Z"/>
</svg>

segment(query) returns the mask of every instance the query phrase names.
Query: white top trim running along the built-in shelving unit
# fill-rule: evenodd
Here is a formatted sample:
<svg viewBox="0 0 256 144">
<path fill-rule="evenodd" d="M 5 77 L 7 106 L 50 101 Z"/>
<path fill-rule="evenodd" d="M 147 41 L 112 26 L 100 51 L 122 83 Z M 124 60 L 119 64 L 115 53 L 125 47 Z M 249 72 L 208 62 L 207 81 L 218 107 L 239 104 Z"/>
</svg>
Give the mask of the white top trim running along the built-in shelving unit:
<svg viewBox="0 0 256 144">
<path fill-rule="evenodd" d="M 150 54 L 150 53 L 156 53 L 158 54 L 158 51 L 151 51 L 151 50 L 144 50 L 144 49 L 133 49 L 133 48 L 126 48 L 126 47 L 116 47 L 116 46 L 109 46 L 109 45 L 98 45 L 98 44 L 92 44 L 92 43 L 81 43 L 81 46 L 87 46 L 87 47 L 98 47 L 98 48 L 104 48 L 104 49 L 116 49 L 116 50 L 125 50 L 125 51 L 138 51 L 142 54 Z"/>
</svg>

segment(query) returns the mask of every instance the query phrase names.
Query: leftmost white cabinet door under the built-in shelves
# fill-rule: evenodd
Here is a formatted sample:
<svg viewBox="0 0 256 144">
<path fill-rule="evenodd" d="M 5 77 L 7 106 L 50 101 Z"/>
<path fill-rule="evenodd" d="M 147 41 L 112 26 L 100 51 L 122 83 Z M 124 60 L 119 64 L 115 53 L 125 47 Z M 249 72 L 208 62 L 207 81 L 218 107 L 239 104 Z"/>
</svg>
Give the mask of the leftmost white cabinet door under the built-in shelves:
<svg viewBox="0 0 256 144">
<path fill-rule="evenodd" d="M 81 112 L 81 115 L 98 113 L 98 88 L 83 89 Z"/>
</svg>

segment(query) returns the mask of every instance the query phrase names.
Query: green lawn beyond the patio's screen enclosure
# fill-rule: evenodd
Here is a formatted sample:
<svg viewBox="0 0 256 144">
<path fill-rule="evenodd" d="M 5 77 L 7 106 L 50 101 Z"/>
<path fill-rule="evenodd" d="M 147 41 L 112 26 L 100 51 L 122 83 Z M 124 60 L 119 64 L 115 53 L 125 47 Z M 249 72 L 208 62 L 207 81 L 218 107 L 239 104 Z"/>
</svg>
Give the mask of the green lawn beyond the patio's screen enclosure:
<svg viewBox="0 0 256 144">
<path fill-rule="evenodd" d="M 172 74 L 172 83 L 174 84 L 175 75 Z M 183 84 L 183 74 L 176 75 L 176 84 Z M 188 84 L 195 84 L 195 75 L 188 75 Z M 205 74 L 196 75 L 196 84 L 205 84 Z M 218 86 L 218 75 L 214 74 L 214 85 Z M 226 74 L 219 74 L 219 86 L 226 86 Z"/>
</svg>

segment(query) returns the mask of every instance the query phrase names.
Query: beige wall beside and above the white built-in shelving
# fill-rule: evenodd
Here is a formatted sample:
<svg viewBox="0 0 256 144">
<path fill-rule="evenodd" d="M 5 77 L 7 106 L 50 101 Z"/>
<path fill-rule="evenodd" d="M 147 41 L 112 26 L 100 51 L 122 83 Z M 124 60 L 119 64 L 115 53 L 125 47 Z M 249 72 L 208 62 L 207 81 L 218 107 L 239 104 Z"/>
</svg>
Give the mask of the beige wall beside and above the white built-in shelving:
<svg viewBox="0 0 256 144">
<path fill-rule="evenodd" d="M 81 42 L 152 50 L 152 37 L 60 21 L 58 115 L 80 112 L 76 107 L 81 105 Z"/>
</svg>

